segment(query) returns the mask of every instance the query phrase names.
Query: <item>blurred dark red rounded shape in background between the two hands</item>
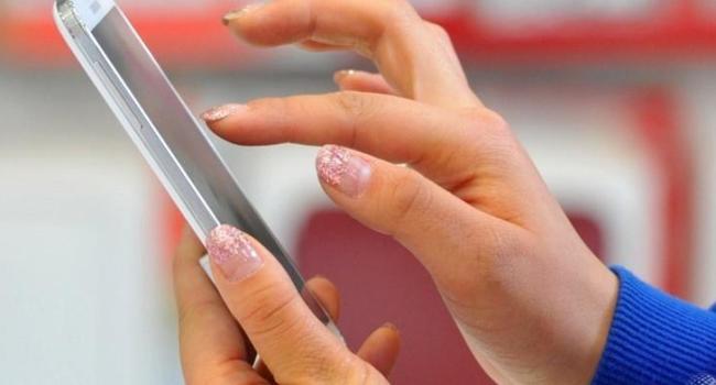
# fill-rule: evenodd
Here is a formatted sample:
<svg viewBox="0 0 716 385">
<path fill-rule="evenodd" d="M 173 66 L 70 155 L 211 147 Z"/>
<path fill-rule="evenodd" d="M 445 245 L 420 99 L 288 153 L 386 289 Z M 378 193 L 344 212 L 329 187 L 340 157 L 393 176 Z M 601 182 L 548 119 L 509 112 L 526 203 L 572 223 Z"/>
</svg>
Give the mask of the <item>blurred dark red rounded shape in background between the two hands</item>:
<svg viewBox="0 0 716 385">
<path fill-rule="evenodd" d="M 601 230 L 584 216 L 573 218 L 593 248 Z M 467 349 L 424 267 L 391 238 L 370 231 L 337 211 L 319 211 L 301 232 L 299 261 L 306 277 L 330 277 L 341 292 L 338 327 L 354 350 L 390 321 L 402 337 L 395 384 L 491 384 Z"/>
</svg>

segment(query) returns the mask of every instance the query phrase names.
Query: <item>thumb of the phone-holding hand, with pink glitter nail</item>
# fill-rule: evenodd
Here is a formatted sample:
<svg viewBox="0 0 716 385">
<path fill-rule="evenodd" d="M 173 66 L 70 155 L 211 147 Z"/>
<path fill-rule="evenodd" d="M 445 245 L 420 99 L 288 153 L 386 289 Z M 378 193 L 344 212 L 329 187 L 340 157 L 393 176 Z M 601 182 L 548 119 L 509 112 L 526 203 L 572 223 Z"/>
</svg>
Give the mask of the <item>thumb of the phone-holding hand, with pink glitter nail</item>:
<svg viewBox="0 0 716 385">
<path fill-rule="evenodd" d="M 207 249 L 221 297 L 278 383 L 366 373 L 365 362 L 313 315 L 281 264 L 254 239 L 220 226 Z"/>
</svg>

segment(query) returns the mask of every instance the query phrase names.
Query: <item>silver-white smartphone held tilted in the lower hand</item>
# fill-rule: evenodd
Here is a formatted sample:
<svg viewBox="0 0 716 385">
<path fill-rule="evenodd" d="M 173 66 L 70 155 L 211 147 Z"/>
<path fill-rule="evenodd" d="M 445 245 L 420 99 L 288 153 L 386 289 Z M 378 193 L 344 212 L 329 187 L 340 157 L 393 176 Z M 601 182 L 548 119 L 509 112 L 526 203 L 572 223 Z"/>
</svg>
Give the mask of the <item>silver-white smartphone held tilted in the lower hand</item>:
<svg viewBox="0 0 716 385">
<path fill-rule="evenodd" d="M 91 82 L 200 240 L 219 224 L 253 235 L 283 265 L 321 321 L 335 323 L 112 0 L 56 0 L 54 19 Z"/>
</svg>

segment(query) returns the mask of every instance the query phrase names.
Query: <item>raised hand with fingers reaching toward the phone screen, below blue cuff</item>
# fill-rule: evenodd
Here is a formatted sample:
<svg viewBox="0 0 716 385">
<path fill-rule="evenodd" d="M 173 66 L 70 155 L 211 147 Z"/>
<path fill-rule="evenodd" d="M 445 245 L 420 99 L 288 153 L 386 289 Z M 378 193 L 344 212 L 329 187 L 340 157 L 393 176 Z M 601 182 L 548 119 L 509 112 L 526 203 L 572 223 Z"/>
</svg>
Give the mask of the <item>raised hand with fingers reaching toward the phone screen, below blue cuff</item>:
<svg viewBox="0 0 716 385">
<path fill-rule="evenodd" d="M 402 0 L 275 0 L 225 21 L 252 44 L 354 50 L 381 75 L 343 72 L 337 94 L 214 109 L 204 118 L 218 135 L 333 144 L 317 158 L 326 194 L 414 253 L 492 378 L 590 380 L 617 278 L 471 91 L 440 26 Z"/>
</svg>

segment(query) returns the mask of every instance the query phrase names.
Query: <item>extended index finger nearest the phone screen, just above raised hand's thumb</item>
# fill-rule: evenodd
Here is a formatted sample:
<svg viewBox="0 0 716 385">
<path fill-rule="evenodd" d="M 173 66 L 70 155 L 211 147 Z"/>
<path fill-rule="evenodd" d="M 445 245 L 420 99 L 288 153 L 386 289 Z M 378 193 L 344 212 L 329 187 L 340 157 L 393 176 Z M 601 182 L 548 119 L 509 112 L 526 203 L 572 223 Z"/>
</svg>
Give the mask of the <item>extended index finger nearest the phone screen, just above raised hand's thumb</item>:
<svg viewBox="0 0 716 385">
<path fill-rule="evenodd" d="M 203 118 L 219 136 L 235 143 L 339 144 L 389 162 L 411 164 L 441 185 L 463 182 L 465 173 L 476 165 L 473 152 L 489 145 L 476 135 L 482 130 L 479 121 L 376 94 L 261 99 L 248 106 L 218 107 Z M 445 179 L 453 175 L 455 180 Z"/>
</svg>

